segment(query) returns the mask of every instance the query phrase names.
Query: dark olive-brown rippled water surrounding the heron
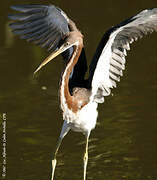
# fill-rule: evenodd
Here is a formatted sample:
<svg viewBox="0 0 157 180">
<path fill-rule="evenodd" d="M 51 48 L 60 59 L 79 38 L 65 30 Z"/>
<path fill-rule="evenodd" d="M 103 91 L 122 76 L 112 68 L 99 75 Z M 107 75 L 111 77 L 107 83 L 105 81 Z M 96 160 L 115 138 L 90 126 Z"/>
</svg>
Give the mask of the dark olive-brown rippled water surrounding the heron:
<svg viewBox="0 0 157 180">
<path fill-rule="evenodd" d="M 56 2 L 84 34 L 89 60 L 105 30 L 156 6 L 154 0 Z M 47 52 L 10 33 L 11 4 L 19 1 L 6 0 L 0 7 L 0 113 L 7 116 L 6 179 L 50 179 L 52 152 L 62 125 L 57 89 L 63 64 L 59 57 L 33 77 Z M 99 106 L 98 124 L 89 143 L 88 179 L 157 179 L 156 40 L 154 33 L 132 46 L 121 83 Z M 82 134 L 66 136 L 55 179 L 82 178 L 84 146 Z"/>
</svg>

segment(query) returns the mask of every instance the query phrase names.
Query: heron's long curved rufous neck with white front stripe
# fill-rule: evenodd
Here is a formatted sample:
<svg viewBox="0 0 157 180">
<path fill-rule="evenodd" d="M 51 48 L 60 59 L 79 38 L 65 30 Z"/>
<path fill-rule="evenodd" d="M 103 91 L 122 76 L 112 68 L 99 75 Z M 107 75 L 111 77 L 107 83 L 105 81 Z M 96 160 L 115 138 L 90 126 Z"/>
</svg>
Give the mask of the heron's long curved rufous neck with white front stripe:
<svg viewBox="0 0 157 180">
<path fill-rule="evenodd" d="M 60 100 L 61 108 L 63 111 L 66 111 L 66 108 L 72 110 L 73 112 L 77 111 L 77 102 L 75 102 L 74 97 L 71 96 L 69 91 L 69 77 L 72 72 L 73 67 L 77 63 L 79 56 L 82 51 L 83 44 L 78 44 L 74 47 L 73 55 L 68 62 L 65 71 L 62 76 L 61 86 L 60 86 Z"/>
</svg>

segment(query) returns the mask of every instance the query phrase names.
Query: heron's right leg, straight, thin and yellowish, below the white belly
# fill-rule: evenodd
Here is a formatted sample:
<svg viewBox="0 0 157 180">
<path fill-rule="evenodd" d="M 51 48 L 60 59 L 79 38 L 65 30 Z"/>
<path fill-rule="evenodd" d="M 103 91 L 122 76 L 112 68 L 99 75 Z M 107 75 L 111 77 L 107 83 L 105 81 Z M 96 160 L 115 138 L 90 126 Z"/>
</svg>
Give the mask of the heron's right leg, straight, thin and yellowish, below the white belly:
<svg viewBox="0 0 157 180">
<path fill-rule="evenodd" d="M 88 140 L 89 140 L 89 134 L 86 135 L 86 149 L 83 157 L 83 161 L 84 161 L 83 180 L 86 180 L 86 171 L 87 171 L 87 163 L 88 163 Z"/>
</svg>

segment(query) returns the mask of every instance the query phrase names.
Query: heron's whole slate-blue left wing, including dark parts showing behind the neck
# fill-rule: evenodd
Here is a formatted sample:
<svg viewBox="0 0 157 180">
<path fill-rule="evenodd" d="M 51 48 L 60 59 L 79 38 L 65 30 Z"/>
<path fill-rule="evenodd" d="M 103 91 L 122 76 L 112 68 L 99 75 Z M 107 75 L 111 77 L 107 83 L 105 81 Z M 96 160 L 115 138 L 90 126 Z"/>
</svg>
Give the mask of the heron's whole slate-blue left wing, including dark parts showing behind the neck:
<svg viewBox="0 0 157 180">
<path fill-rule="evenodd" d="M 13 33 L 48 50 L 55 51 L 60 47 L 71 30 L 67 15 L 54 5 L 15 5 L 11 8 L 18 11 L 8 16 L 14 21 L 10 24 Z M 62 53 L 66 63 L 73 52 L 71 47 Z M 87 62 L 83 49 L 70 76 L 71 89 L 82 85 L 86 71 Z"/>
</svg>

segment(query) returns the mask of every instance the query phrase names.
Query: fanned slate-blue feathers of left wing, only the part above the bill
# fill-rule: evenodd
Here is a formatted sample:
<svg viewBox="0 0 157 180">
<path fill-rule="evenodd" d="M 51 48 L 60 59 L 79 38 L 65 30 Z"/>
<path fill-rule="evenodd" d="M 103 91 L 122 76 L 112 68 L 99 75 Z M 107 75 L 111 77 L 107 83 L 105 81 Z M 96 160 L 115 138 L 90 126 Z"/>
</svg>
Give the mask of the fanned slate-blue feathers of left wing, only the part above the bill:
<svg viewBox="0 0 157 180">
<path fill-rule="evenodd" d="M 69 32 L 67 15 L 53 5 L 11 6 L 19 13 L 9 15 L 13 33 L 21 39 L 54 51 Z"/>
</svg>

